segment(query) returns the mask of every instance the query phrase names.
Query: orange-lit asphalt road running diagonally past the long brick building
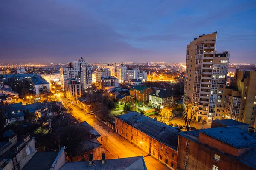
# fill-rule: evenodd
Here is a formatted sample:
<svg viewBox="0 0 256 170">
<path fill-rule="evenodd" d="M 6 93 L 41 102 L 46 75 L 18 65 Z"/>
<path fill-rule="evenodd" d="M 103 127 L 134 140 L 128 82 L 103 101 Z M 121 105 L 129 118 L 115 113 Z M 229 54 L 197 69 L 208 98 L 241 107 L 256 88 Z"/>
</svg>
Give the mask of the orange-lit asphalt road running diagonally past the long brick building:
<svg viewBox="0 0 256 170">
<path fill-rule="evenodd" d="M 103 139 L 107 138 L 104 146 L 106 149 L 106 159 L 142 156 L 142 150 L 140 148 L 124 140 L 119 136 L 119 134 L 95 119 L 94 116 L 85 114 L 84 111 L 82 111 L 81 108 L 77 106 L 72 106 L 72 108 L 72 116 L 81 121 L 85 120 L 102 136 Z M 144 154 L 144 160 L 148 170 L 169 170 L 168 167 L 161 164 L 151 156 Z"/>
</svg>

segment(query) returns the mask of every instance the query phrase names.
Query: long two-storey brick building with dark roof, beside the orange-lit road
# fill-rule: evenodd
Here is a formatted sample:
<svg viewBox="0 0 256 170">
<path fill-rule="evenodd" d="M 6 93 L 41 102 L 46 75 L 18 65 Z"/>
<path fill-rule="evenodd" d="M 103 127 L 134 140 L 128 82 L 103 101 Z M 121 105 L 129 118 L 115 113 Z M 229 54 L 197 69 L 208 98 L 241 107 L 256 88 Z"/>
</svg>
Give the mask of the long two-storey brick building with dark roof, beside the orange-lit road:
<svg viewBox="0 0 256 170">
<path fill-rule="evenodd" d="M 138 112 L 116 116 L 116 132 L 172 170 L 177 164 L 177 127 L 158 122 Z"/>
</svg>

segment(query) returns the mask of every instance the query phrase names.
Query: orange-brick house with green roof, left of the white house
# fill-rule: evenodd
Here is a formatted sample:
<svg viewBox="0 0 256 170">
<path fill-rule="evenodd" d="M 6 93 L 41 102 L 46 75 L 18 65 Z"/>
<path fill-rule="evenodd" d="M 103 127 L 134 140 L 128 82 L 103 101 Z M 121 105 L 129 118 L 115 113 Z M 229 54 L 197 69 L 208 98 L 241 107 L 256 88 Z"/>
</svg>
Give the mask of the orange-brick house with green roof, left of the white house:
<svg viewBox="0 0 256 170">
<path fill-rule="evenodd" d="M 149 94 L 153 92 L 152 88 L 137 85 L 134 88 L 131 88 L 130 94 L 139 102 L 148 102 Z"/>
</svg>

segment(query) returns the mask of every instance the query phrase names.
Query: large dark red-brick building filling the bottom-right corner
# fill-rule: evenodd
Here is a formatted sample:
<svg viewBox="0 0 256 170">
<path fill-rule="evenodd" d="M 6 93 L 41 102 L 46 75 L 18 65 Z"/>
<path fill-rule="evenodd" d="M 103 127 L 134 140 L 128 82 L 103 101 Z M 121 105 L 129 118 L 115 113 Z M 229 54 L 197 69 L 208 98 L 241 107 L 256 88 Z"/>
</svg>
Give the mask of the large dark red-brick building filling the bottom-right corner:
<svg viewBox="0 0 256 170">
<path fill-rule="evenodd" d="M 179 133 L 178 143 L 177 170 L 256 169 L 256 136 L 244 123 L 213 120 L 212 128 Z"/>
</svg>

